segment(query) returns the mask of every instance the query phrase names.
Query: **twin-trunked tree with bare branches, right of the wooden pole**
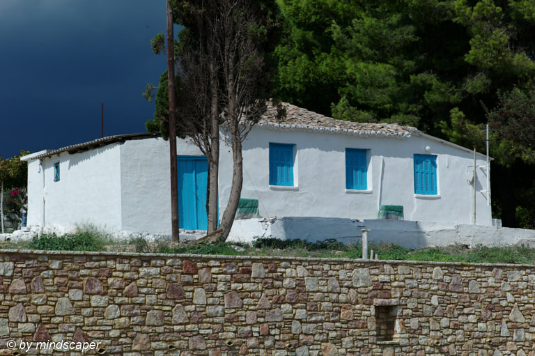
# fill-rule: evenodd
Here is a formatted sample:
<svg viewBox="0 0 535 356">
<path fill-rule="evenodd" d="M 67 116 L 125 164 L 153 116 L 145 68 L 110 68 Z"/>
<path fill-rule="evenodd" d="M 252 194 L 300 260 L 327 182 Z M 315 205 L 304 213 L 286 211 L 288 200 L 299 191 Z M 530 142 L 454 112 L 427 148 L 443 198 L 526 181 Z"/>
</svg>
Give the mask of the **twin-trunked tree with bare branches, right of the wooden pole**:
<svg viewBox="0 0 535 356">
<path fill-rule="evenodd" d="M 249 0 L 188 2 L 181 19 L 189 28 L 181 43 L 180 66 L 188 107 L 183 113 L 195 143 L 208 159 L 208 235 L 199 242 L 226 240 L 243 184 L 242 141 L 265 111 L 261 84 L 263 19 Z M 182 112 L 181 112 L 182 114 Z M 219 123 L 230 132 L 233 155 L 231 192 L 218 229 Z M 225 167 L 228 169 L 228 167 Z"/>
</svg>

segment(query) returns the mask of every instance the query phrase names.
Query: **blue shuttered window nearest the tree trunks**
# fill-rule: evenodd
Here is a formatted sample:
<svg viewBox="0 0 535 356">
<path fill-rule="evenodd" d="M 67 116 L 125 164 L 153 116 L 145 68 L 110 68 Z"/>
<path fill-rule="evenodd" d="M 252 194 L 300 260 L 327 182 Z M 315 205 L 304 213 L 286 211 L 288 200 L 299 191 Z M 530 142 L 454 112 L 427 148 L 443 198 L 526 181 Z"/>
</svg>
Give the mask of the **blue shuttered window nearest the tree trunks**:
<svg viewBox="0 0 535 356">
<path fill-rule="evenodd" d="M 293 187 L 293 147 L 270 143 L 270 185 Z"/>
</svg>

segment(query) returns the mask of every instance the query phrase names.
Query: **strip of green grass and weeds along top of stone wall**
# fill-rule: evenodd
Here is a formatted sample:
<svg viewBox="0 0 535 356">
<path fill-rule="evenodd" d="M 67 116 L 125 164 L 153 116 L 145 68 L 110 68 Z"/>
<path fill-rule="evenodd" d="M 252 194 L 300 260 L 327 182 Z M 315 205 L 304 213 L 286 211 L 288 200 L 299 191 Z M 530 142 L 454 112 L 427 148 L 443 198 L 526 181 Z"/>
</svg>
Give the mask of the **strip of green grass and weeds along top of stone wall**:
<svg viewBox="0 0 535 356">
<path fill-rule="evenodd" d="M 111 245 L 111 248 L 110 248 Z M 240 248 L 237 248 L 237 247 Z M 215 245 L 192 245 L 171 240 L 148 242 L 144 238 L 129 242 L 114 241 L 106 233 L 91 226 L 79 227 L 66 235 L 42 235 L 26 242 L 0 242 L 0 249 L 40 249 L 58 251 L 136 251 L 163 254 L 210 254 L 232 256 L 281 256 L 320 258 L 361 258 L 360 245 L 344 245 L 334 239 L 319 242 L 306 240 L 278 240 L 258 238 L 253 243 L 219 242 Z M 380 260 L 442 261 L 470 263 L 525 263 L 533 264 L 535 249 L 520 246 L 486 247 L 471 249 L 465 245 L 407 249 L 392 244 L 369 245 Z"/>
</svg>

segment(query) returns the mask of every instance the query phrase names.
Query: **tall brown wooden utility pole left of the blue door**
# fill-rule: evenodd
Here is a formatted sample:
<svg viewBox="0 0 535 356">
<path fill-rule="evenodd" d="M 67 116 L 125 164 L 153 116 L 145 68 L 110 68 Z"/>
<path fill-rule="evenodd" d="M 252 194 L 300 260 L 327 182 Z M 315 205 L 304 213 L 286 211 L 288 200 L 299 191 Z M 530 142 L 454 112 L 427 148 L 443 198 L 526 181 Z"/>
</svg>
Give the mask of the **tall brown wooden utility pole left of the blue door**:
<svg viewBox="0 0 535 356">
<path fill-rule="evenodd" d="M 167 79 L 169 82 L 169 167 L 171 168 L 171 229 L 178 236 L 178 169 L 176 161 L 175 51 L 173 46 L 173 9 L 167 0 Z"/>
</svg>

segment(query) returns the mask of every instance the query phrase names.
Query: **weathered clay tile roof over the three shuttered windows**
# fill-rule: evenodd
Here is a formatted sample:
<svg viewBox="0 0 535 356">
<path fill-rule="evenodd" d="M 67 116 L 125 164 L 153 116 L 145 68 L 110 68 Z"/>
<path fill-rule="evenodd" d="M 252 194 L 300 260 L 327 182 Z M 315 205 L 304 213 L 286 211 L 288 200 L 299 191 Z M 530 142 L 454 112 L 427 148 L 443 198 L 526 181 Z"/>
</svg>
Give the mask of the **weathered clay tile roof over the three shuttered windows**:
<svg viewBox="0 0 535 356">
<path fill-rule="evenodd" d="M 277 121 L 277 108 L 271 102 L 267 105 L 267 111 L 258 121 L 258 125 L 272 126 L 281 129 L 297 130 L 320 130 L 327 132 L 345 132 L 359 135 L 379 135 L 410 137 L 417 129 L 410 126 L 401 126 L 395 123 L 355 123 L 352 121 L 336 120 L 313 111 L 281 103 L 286 108 L 286 117 Z"/>
</svg>

